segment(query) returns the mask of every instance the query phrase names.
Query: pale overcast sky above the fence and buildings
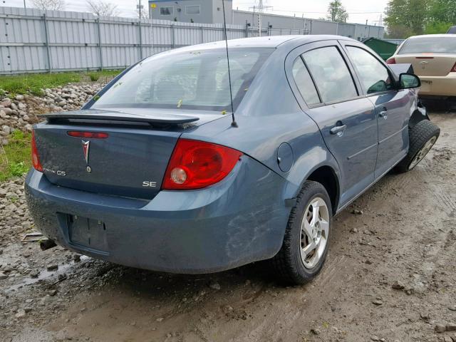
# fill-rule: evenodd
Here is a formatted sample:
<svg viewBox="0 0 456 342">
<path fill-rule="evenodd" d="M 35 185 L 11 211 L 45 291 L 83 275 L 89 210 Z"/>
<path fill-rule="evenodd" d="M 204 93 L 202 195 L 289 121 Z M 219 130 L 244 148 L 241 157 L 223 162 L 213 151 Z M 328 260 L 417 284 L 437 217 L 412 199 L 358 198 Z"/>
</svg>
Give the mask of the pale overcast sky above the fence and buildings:
<svg viewBox="0 0 456 342">
<path fill-rule="evenodd" d="M 30 0 L 25 0 L 26 6 L 31 6 Z M 118 6 L 120 16 L 136 16 L 136 5 L 139 0 L 105 0 Z M 147 1 L 147 0 L 142 0 Z M 306 18 L 323 18 L 326 16 L 330 0 L 263 0 L 267 6 L 272 6 L 268 12 L 273 14 L 295 15 Z M 380 14 L 385 11 L 388 0 L 342 0 L 348 11 L 348 21 L 351 23 L 378 25 Z M 249 10 L 258 0 L 233 0 L 234 9 Z M 0 6 L 23 7 L 24 0 L 0 0 Z M 87 11 L 85 0 L 66 0 L 67 11 Z M 252 9 L 250 9 L 252 10 Z M 384 15 L 383 15 L 384 16 Z"/>
</svg>

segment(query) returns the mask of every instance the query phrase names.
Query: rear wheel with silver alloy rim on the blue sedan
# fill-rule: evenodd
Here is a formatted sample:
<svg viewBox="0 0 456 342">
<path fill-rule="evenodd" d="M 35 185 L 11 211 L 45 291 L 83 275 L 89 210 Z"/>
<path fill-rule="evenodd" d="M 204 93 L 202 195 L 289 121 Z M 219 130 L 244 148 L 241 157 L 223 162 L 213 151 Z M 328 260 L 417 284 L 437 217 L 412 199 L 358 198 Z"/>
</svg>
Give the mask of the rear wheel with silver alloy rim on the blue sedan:
<svg viewBox="0 0 456 342">
<path fill-rule="evenodd" d="M 318 219 L 318 224 L 314 222 L 314 228 L 317 231 L 314 236 L 320 244 L 318 244 L 314 254 L 311 252 L 311 240 L 309 239 L 309 234 L 313 234 L 313 229 L 310 232 L 314 219 L 314 208 L 312 204 L 321 204 L 318 207 L 318 217 L 321 221 Z M 309 214 L 311 215 L 310 217 Z M 304 226 L 306 229 L 301 230 L 301 224 L 304 223 L 304 219 L 308 223 L 310 219 L 310 223 Z M 276 274 L 281 281 L 284 281 L 286 284 L 300 285 L 314 279 L 321 270 L 328 254 L 331 224 L 331 200 L 325 187 L 318 182 L 305 182 L 299 195 L 296 197 L 296 205 L 291 209 L 282 247 L 276 256 L 271 259 Z M 305 234 L 305 232 L 309 232 L 309 234 Z M 321 247 L 323 240 L 324 247 Z M 305 249 L 303 247 L 307 247 L 307 254 L 304 252 Z M 303 257 L 301 257 L 301 251 L 303 252 Z M 316 259 L 312 259 L 312 256 Z"/>
</svg>

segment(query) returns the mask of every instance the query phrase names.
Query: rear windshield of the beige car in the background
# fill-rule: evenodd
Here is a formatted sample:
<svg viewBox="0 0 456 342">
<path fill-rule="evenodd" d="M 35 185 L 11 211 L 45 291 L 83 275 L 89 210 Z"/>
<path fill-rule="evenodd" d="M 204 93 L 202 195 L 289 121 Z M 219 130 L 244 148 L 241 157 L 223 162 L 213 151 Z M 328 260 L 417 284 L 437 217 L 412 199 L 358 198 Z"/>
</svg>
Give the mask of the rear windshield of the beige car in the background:
<svg viewBox="0 0 456 342">
<path fill-rule="evenodd" d="M 420 37 L 405 41 L 398 54 L 404 53 L 456 53 L 455 37 Z"/>
</svg>

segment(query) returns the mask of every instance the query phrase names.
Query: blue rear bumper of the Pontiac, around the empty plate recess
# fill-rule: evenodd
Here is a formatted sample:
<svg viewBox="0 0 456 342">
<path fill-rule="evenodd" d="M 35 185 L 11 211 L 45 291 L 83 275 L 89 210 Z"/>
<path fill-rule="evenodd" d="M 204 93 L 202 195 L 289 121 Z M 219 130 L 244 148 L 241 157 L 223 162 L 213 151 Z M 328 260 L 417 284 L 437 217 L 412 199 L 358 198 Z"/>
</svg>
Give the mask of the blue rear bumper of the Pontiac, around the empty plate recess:
<svg viewBox="0 0 456 342">
<path fill-rule="evenodd" d="M 58 187 L 32 169 L 26 199 L 37 227 L 63 247 L 125 266 L 197 274 L 279 251 L 290 210 L 282 197 L 285 182 L 244 155 L 217 185 L 161 191 L 150 201 Z M 67 214 L 103 221 L 107 248 L 73 243 Z"/>
</svg>

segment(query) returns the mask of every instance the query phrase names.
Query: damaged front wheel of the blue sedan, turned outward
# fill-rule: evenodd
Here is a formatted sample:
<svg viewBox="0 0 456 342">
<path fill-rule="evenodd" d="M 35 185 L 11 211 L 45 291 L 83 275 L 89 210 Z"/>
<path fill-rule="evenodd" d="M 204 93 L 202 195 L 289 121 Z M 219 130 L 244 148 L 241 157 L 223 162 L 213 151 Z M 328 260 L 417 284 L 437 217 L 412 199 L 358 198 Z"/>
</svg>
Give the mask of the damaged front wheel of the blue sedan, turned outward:
<svg viewBox="0 0 456 342">
<path fill-rule="evenodd" d="M 398 172 L 408 172 L 423 160 L 427 152 L 437 141 L 440 135 L 440 128 L 430 120 L 422 120 L 408 131 L 410 146 L 408 154 L 395 167 Z"/>
</svg>

